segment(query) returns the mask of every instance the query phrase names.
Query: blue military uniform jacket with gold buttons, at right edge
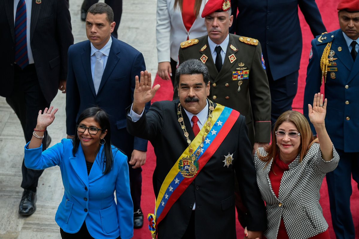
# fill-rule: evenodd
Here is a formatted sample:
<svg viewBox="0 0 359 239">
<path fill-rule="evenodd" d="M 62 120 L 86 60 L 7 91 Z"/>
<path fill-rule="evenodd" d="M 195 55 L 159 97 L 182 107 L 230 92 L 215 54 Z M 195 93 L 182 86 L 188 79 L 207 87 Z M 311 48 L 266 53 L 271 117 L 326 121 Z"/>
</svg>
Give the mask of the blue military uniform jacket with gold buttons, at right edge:
<svg viewBox="0 0 359 239">
<path fill-rule="evenodd" d="M 326 129 L 335 148 L 344 150 L 344 152 L 359 152 L 357 143 L 359 134 L 359 57 L 357 56 L 356 61 L 353 61 L 340 29 L 319 35 L 312 40 L 303 113 L 309 121 L 308 104 L 313 104 L 314 94 L 320 91 L 322 84 L 320 59 L 328 42 L 332 42 L 330 49 L 335 54 L 333 60 L 330 61 L 331 66 L 328 66 L 325 83 L 325 97 L 328 99 L 325 117 Z M 316 134 L 313 125 L 310 125 L 313 133 Z"/>
</svg>

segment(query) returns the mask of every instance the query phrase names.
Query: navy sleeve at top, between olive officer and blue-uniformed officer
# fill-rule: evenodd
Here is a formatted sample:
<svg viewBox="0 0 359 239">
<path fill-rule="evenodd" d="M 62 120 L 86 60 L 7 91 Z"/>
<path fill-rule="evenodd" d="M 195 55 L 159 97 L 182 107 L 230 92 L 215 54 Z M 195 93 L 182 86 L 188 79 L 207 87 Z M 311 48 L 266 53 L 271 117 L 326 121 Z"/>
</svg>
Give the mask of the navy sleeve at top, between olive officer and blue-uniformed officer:
<svg viewBox="0 0 359 239">
<path fill-rule="evenodd" d="M 326 32 L 322 21 L 322 16 L 315 0 L 298 0 L 300 11 L 302 11 L 309 27 L 311 28 L 313 37 Z"/>
</svg>

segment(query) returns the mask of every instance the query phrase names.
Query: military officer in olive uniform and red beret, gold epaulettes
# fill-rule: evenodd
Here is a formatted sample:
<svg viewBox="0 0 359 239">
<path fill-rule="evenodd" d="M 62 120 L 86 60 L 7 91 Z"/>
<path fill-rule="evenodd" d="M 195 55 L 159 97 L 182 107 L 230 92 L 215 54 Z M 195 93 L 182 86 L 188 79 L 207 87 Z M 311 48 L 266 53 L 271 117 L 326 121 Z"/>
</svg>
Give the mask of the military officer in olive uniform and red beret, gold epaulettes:
<svg viewBox="0 0 359 239">
<path fill-rule="evenodd" d="M 271 98 L 258 40 L 229 34 L 229 0 L 210 0 L 202 12 L 208 35 L 181 43 L 178 64 L 200 59 L 209 69 L 209 98 L 246 116 L 248 137 L 257 148 L 270 142 Z M 178 98 L 175 82 L 173 98 Z"/>
</svg>

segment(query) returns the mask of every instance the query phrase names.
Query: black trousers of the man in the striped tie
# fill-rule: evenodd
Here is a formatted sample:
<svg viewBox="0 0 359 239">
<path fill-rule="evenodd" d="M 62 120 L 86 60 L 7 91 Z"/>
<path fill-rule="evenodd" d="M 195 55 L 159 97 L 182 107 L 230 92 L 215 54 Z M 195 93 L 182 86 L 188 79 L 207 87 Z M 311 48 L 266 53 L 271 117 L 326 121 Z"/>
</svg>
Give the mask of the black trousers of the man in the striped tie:
<svg viewBox="0 0 359 239">
<path fill-rule="evenodd" d="M 45 107 L 50 106 L 40 89 L 34 64 L 29 64 L 24 70 L 15 65 L 14 89 L 12 94 L 6 97 L 6 102 L 18 116 L 26 143 L 28 143 L 36 127 L 39 110 L 44 110 Z M 45 132 L 45 137 L 42 140 L 42 150 L 46 149 L 46 136 L 47 132 Z M 25 167 L 23 160 L 21 187 L 36 191 L 42 172 L 43 170 L 33 170 Z"/>
</svg>

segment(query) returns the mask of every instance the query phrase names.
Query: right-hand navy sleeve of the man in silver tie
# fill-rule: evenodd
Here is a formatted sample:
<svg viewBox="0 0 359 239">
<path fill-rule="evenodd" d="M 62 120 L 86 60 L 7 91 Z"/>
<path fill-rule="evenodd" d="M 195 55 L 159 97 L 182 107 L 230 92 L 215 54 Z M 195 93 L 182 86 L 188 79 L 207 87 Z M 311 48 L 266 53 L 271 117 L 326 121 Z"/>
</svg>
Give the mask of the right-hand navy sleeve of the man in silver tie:
<svg viewBox="0 0 359 239">
<path fill-rule="evenodd" d="M 135 77 L 138 76 L 140 77 L 141 71 L 145 71 L 146 70 L 146 65 L 145 65 L 145 59 L 143 58 L 142 53 L 138 53 L 134 59 L 134 62 L 132 63 L 132 69 L 131 69 L 131 99 L 132 102 L 134 100 L 134 92 L 135 92 L 135 86 L 136 86 L 136 81 L 135 81 Z M 148 111 L 148 109 L 150 108 L 151 103 L 147 102 L 145 105 L 145 112 Z M 141 151 L 147 151 L 147 140 L 145 139 L 141 139 L 138 137 L 134 138 L 134 149 L 136 150 L 141 150 Z"/>
</svg>

